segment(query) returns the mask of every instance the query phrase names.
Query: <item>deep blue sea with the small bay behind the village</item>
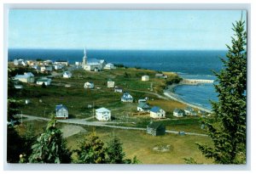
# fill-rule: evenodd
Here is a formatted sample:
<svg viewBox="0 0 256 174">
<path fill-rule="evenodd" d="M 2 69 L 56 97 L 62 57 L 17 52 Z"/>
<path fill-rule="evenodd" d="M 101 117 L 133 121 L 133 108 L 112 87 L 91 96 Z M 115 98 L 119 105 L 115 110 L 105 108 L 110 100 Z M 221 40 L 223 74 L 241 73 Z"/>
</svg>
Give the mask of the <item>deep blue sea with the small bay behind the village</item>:
<svg viewBox="0 0 256 174">
<path fill-rule="evenodd" d="M 105 59 L 113 64 L 141 67 L 149 70 L 173 71 L 183 78 L 213 79 L 212 70 L 222 69 L 220 57 L 224 50 L 87 50 L 89 59 Z M 64 59 L 69 63 L 82 61 L 83 49 L 9 49 L 13 59 Z M 217 101 L 212 84 L 177 86 L 175 93 L 186 102 L 211 109 L 209 100 Z"/>
</svg>

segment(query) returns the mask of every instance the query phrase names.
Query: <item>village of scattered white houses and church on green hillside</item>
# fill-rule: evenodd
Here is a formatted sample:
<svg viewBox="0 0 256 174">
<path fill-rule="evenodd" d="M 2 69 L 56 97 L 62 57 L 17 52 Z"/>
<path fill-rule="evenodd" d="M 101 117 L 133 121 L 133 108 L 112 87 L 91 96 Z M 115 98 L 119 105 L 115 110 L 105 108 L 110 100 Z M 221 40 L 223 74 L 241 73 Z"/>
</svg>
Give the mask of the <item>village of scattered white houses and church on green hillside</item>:
<svg viewBox="0 0 256 174">
<path fill-rule="evenodd" d="M 55 115 L 61 124 L 96 126 L 98 130 L 104 126 L 133 130 L 129 133 L 143 130 L 142 136 L 160 138 L 170 133 L 205 136 L 200 120 L 206 111 L 162 95 L 166 81 L 178 78 L 175 73 L 87 59 L 85 49 L 81 63 L 15 59 L 9 62 L 9 72 L 15 70 L 20 73 L 10 80 L 18 94 L 15 98 L 22 103 L 16 115 L 21 122 L 38 124 Z M 72 134 L 72 129 L 64 133 L 68 132 Z"/>
</svg>

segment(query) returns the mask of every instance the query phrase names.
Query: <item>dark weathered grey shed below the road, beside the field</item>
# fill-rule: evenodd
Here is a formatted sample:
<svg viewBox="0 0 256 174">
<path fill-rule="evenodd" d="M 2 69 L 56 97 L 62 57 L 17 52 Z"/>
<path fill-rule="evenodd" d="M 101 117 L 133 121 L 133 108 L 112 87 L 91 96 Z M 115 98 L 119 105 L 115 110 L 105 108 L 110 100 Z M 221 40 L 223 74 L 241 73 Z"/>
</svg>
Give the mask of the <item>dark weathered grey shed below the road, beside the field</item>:
<svg viewBox="0 0 256 174">
<path fill-rule="evenodd" d="M 166 126 L 161 122 L 151 121 L 147 126 L 147 133 L 153 136 L 160 136 L 166 134 Z"/>
</svg>

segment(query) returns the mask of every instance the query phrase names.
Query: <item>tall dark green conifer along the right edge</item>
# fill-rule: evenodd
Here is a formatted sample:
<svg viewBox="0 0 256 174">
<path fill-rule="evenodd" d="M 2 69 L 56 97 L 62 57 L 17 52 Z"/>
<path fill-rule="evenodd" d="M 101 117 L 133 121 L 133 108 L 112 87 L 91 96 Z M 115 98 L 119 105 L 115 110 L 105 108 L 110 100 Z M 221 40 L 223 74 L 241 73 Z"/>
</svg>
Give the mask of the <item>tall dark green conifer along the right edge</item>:
<svg viewBox="0 0 256 174">
<path fill-rule="evenodd" d="M 246 162 L 247 32 L 245 21 L 233 24 L 235 35 L 228 46 L 224 70 L 215 73 L 218 102 L 212 102 L 212 116 L 204 121 L 213 147 L 197 143 L 202 154 L 218 164 Z"/>
</svg>

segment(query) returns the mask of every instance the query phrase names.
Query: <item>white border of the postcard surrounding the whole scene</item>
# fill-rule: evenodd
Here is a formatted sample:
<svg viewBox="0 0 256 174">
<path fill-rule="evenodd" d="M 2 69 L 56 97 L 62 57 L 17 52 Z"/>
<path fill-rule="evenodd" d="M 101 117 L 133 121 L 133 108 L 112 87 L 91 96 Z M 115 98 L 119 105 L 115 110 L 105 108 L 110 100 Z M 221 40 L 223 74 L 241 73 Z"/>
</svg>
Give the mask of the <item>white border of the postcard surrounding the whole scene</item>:
<svg viewBox="0 0 256 174">
<path fill-rule="evenodd" d="M 88 2 L 88 1 L 87 1 Z M 216 1 L 214 1 L 216 2 Z M 251 57 L 251 52 L 250 52 L 250 48 L 253 48 L 253 44 L 252 46 L 250 46 L 250 42 L 251 42 L 251 38 L 253 38 L 253 33 L 251 34 L 250 30 L 252 29 L 251 26 L 251 17 L 253 16 L 253 4 L 252 1 L 233 1 L 232 3 L 229 3 L 229 1 L 218 1 L 218 4 L 216 3 L 212 3 L 212 1 L 209 2 L 205 2 L 205 1 L 196 1 L 191 3 L 191 1 L 176 1 L 174 3 L 166 3 L 166 1 L 157 1 L 157 2 L 153 2 L 153 1 L 146 1 L 143 3 L 140 3 L 137 1 L 126 1 L 123 4 L 117 4 L 119 2 L 116 1 L 111 1 L 111 3 L 105 3 L 105 1 L 94 1 L 94 2 L 90 2 L 90 4 L 80 4 L 82 3 L 81 1 L 77 1 L 77 0 L 73 0 L 73 1 L 61 1 L 61 3 L 70 3 L 70 4 L 57 4 L 57 2 L 55 1 L 53 4 L 53 1 L 3 1 L 3 3 L 13 3 L 13 4 L 3 4 L 3 7 L 1 10 L 3 10 L 3 13 L 1 13 L 0 18 L 3 19 L 4 18 L 4 27 L 3 27 L 3 50 L 1 52 L 2 55 L 2 59 L 1 59 L 1 64 L 0 64 L 0 70 L 1 71 L 1 78 L 3 79 L 3 81 L 7 81 L 7 24 L 8 24 L 8 20 L 7 20 L 7 16 L 8 16 L 8 9 L 9 8 L 97 8 L 97 9 L 115 9 L 115 8 L 119 8 L 119 9 L 247 9 L 247 24 L 248 24 L 248 58 Z M 26 4 L 26 3 L 39 3 L 39 4 Z M 79 4 L 75 4 L 75 3 L 79 3 Z M 133 3 L 133 4 L 130 4 Z M 160 3 L 164 3 L 164 4 L 160 4 Z M 245 4 L 247 3 L 247 4 Z M 251 5 L 251 7 L 250 7 Z M 252 8 L 252 11 L 251 11 Z M 251 15 L 252 13 L 252 15 Z M 254 12 L 255 13 L 255 12 Z M 4 16 L 2 16 L 4 14 Z M 255 27 L 253 27 L 255 29 Z M 252 30 L 253 31 L 253 30 Z M 253 53 L 253 50 L 252 50 Z M 2 61 L 3 60 L 3 61 Z M 251 65 L 253 64 L 253 59 L 248 59 L 248 71 L 252 70 L 253 68 L 251 68 Z M 3 73 L 2 73 L 3 72 Z M 253 76 L 253 72 L 252 72 L 252 76 Z M 248 79 L 250 79 L 251 75 L 248 76 Z M 254 79 L 254 78 L 253 78 Z M 252 82 L 252 84 L 251 84 Z M 2 83 L 2 87 L 3 90 L 1 90 L 0 96 L 3 97 L 3 104 L 6 105 L 6 98 L 7 98 L 7 84 L 6 83 Z M 253 96 L 250 95 L 251 93 L 251 85 L 253 85 L 253 81 L 248 81 L 248 115 L 253 115 L 253 113 L 251 113 L 251 107 L 249 104 L 251 104 L 251 100 L 253 99 Z M 252 87 L 253 88 L 253 87 Z M 252 98 L 251 98 L 252 97 Z M 3 107 L 3 104 L 1 104 L 1 107 Z M 2 114 L 5 115 L 4 116 L 4 120 L 6 120 L 6 107 L 4 106 L 3 109 L 1 108 L 1 110 L 3 110 Z M 251 132 L 250 132 L 250 128 L 251 128 L 251 119 L 253 120 L 253 118 L 251 118 L 250 116 L 248 116 L 248 120 L 247 120 L 247 140 L 250 140 L 251 137 Z M 5 135 L 4 137 L 4 141 L 3 144 L 5 144 L 4 142 L 6 142 L 6 122 L 3 122 L 3 132 L 1 132 L 1 135 Z M 253 132 L 253 131 L 252 131 Z M 253 142 L 253 141 L 252 141 Z M 189 166 L 189 165 L 140 165 L 140 166 L 127 166 L 127 165 L 104 165 L 104 166 L 95 166 L 95 165 L 10 165 L 6 163 L 6 150 L 1 149 L 1 151 L 4 153 L 3 158 L 1 158 L 1 162 L 3 160 L 3 170 L 50 170 L 50 171 L 56 171 L 56 170 L 65 170 L 65 171 L 78 171 L 78 170 L 89 170 L 89 171 L 94 171 L 94 170 L 113 170 L 113 171 L 119 171 L 119 170 L 137 170 L 137 171 L 167 171 L 167 170 L 172 170 L 172 171 L 207 171 L 207 170 L 220 170 L 220 171 L 230 171 L 230 170 L 234 170 L 234 171 L 241 171 L 241 170 L 250 170 L 251 168 L 251 161 L 253 161 L 253 159 L 251 160 L 251 157 L 253 157 L 253 155 L 251 154 L 251 147 L 250 146 L 251 142 L 247 143 L 247 165 L 246 166 L 212 166 L 212 165 L 205 165 L 205 166 Z M 6 145 L 3 146 L 4 149 L 6 149 Z M 1 147 L 2 148 L 2 147 Z M 252 149 L 253 151 L 253 149 Z M 2 153 L 1 153 L 2 154 Z M 253 167 L 253 166 L 252 166 Z M 198 171 L 197 171 L 198 170 Z M 86 171 L 85 171 L 86 172 Z M 122 171 L 123 172 L 123 171 Z"/>
</svg>

